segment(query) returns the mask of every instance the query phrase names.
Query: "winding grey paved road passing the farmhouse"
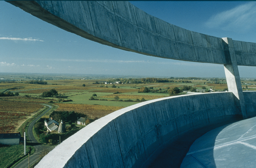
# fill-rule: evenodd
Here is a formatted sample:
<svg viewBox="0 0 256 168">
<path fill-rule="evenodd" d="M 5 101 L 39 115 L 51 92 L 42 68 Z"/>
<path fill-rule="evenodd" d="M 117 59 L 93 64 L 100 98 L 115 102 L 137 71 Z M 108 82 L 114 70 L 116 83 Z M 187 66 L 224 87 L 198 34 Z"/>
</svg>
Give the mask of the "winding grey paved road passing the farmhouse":
<svg viewBox="0 0 256 168">
<path fill-rule="evenodd" d="M 18 165 L 16 165 L 14 168 L 27 168 L 30 162 L 30 165 L 32 165 L 33 163 L 35 163 L 38 159 L 40 159 L 40 152 L 45 148 L 45 146 L 43 146 L 41 143 L 38 143 L 33 135 L 32 129 L 34 124 L 36 123 L 37 120 L 39 120 L 43 115 L 45 115 L 45 113 L 47 113 L 49 110 L 51 110 L 53 107 L 49 106 L 49 105 L 45 105 L 44 106 L 48 106 L 49 108 L 43 112 L 41 115 L 39 115 L 34 121 L 32 121 L 29 125 L 29 128 L 27 129 L 27 136 L 29 137 L 30 141 L 26 141 L 29 142 L 31 146 L 35 147 L 35 153 L 33 155 L 30 155 L 29 158 L 24 159 L 21 163 L 19 163 Z M 54 148 L 55 146 L 49 146 L 47 148 Z"/>
</svg>

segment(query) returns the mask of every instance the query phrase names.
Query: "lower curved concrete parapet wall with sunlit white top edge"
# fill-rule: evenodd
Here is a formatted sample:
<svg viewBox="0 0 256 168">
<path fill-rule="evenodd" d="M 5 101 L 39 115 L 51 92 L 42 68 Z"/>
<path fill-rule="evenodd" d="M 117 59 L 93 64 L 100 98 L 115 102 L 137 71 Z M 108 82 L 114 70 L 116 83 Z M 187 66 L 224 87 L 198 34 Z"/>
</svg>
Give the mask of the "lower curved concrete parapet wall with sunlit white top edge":
<svg viewBox="0 0 256 168">
<path fill-rule="evenodd" d="M 255 97 L 255 93 L 248 92 L 246 96 Z M 255 111 L 255 105 L 248 108 Z M 238 113 L 232 92 L 146 101 L 89 124 L 53 149 L 36 168 L 146 167 L 163 146 L 179 136 L 231 122 Z"/>
</svg>

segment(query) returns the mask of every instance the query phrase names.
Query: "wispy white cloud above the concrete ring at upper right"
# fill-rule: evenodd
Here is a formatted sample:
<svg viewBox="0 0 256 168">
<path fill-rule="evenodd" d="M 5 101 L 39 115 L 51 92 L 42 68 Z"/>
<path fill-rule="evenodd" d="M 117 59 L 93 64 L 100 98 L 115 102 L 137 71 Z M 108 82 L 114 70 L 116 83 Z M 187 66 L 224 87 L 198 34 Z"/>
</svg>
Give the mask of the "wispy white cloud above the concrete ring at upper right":
<svg viewBox="0 0 256 168">
<path fill-rule="evenodd" d="M 256 25 L 256 2 L 248 2 L 212 16 L 205 26 L 229 31 L 248 31 Z"/>
</svg>

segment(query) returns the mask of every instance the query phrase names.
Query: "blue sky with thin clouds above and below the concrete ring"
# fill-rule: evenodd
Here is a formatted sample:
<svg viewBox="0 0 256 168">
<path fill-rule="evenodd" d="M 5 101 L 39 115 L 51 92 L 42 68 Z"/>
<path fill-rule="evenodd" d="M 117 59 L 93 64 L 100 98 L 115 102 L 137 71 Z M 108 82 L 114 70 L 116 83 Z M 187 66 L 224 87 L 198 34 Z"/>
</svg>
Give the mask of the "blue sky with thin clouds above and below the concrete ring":
<svg viewBox="0 0 256 168">
<path fill-rule="evenodd" d="M 132 1 L 168 23 L 256 43 L 256 2 Z M 0 1 L 0 72 L 225 77 L 223 65 L 162 59 L 115 49 L 66 32 Z M 255 67 L 239 67 L 256 77 Z"/>
</svg>

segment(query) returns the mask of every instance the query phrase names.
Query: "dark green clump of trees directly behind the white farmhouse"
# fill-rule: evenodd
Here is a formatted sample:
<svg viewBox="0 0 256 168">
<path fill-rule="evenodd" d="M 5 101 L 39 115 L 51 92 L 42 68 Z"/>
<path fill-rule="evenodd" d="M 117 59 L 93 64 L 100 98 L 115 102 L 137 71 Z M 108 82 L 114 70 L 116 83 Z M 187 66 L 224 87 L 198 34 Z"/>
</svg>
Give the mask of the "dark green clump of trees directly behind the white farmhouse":
<svg viewBox="0 0 256 168">
<path fill-rule="evenodd" d="M 75 111 L 56 111 L 54 110 L 49 117 L 53 118 L 55 121 L 64 121 L 64 122 L 75 122 L 77 118 L 80 117 L 88 118 L 88 116 L 84 113 L 78 113 Z"/>
</svg>

